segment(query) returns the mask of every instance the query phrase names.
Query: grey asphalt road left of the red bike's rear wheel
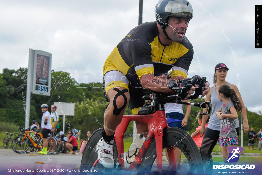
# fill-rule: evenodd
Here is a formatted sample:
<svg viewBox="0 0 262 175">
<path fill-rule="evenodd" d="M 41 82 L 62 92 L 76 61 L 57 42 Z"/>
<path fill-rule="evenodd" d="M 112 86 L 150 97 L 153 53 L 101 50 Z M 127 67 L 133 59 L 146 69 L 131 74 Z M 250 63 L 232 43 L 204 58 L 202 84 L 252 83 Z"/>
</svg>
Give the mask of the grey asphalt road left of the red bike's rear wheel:
<svg viewBox="0 0 262 175">
<path fill-rule="evenodd" d="M 26 173 L 25 170 L 46 170 L 43 174 L 72 174 L 72 173 L 61 173 L 54 172 L 48 173 L 48 171 L 61 171 L 60 169 L 77 169 L 80 168 L 82 156 L 71 155 L 71 154 L 51 154 L 51 155 L 40 155 L 33 153 L 29 155 L 27 153 L 18 154 L 12 149 L 0 149 L 0 174 L 37 174 L 39 172 Z M 59 170 L 57 170 L 59 169 Z M 23 173 L 12 172 L 16 170 L 24 170 Z M 8 172 L 11 171 L 11 172 Z M 39 173 L 41 174 L 41 173 Z M 74 174 L 74 173 L 73 173 Z"/>
</svg>

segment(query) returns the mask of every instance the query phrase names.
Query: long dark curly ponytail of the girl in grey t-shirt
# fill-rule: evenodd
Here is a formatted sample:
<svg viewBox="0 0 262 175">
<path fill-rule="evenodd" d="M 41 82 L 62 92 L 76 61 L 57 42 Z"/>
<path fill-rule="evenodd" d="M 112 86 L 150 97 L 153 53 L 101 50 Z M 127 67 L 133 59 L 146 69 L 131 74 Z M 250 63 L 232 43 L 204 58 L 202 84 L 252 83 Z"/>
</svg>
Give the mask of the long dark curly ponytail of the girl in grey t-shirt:
<svg viewBox="0 0 262 175">
<path fill-rule="evenodd" d="M 226 98 L 230 98 L 230 100 L 233 102 L 234 107 L 236 108 L 237 112 L 242 112 L 242 105 L 240 103 L 239 98 L 237 98 L 236 92 L 234 89 L 231 89 L 230 86 L 223 84 L 218 89 L 219 93 L 222 93 Z"/>
</svg>

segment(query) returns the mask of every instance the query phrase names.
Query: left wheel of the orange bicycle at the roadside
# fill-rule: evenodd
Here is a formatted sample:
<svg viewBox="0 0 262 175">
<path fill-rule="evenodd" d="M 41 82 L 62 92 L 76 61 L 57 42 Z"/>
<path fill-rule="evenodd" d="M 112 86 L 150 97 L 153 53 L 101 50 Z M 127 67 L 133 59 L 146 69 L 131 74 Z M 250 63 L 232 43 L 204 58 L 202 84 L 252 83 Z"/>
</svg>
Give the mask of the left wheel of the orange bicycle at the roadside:
<svg viewBox="0 0 262 175">
<path fill-rule="evenodd" d="M 21 153 L 26 152 L 30 148 L 29 139 L 25 137 L 24 141 L 22 142 L 23 138 L 24 136 L 19 135 L 19 136 L 16 136 L 14 140 L 12 141 L 12 149 L 14 150 L 14 152 L 21 154 Z"/>
</svg>

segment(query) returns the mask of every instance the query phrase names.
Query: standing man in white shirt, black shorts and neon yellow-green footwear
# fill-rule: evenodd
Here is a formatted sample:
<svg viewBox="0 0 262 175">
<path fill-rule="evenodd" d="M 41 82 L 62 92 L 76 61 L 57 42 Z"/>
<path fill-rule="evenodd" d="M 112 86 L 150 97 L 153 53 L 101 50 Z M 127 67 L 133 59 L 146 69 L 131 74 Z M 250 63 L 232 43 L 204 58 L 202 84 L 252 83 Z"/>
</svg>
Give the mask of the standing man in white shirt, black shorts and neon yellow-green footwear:
<svg viewBox="0 0 262 175">
<path fill-rule="evenodd" d="M 47 154 L 47 136 L 51 132 L 52 125 L 51 125 L 51 115 L 48 112 L 48 105 L 42 104 L 41 105 L 43 116 L 41 121 L 41 128 L 42 128 L 42 135 L 43 135 L 43 148 L 39 151 L 39 154 Z"/>
</svg>

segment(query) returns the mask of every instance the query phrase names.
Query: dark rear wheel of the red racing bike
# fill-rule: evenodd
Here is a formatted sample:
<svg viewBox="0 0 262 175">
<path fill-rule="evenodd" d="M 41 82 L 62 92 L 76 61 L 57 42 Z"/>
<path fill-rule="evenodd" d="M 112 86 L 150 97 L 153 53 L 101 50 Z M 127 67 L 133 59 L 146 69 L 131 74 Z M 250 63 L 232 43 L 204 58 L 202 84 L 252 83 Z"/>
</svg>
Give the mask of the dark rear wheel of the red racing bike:
<svg viewBox="0 0 262 175">
<path fill-rule="evenodd" d="M 85 146 L 82 160 L 81 160 L 81 165 L 80 169 L 85 169 L 89 170 L 92 168 L 94 165 L 95 161 L 97 160 L 97 152 L 96 152 L 96 144 L 101 139 L 102 137 L 102 129 L 97 129 L 90 137 L 89 141 L 87 142 L 87 145 Z M 117 146 L 116 142 L 113 144 L 113 157 L 114 157 L 114 163 L 115 167 L 114 168 L 105 168 L 103 167 L 99 162 L 97 162 L 96 166 L 94 169 L 98 169 L 98 172 L 105 173 L 105 172 L 112 172 L 115 173 L 118 171 L 118 152 L 117 152 Z"/>
</svg>

